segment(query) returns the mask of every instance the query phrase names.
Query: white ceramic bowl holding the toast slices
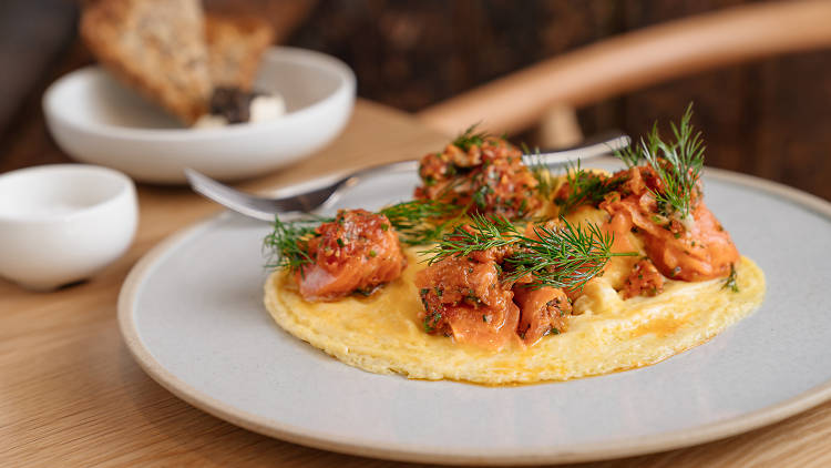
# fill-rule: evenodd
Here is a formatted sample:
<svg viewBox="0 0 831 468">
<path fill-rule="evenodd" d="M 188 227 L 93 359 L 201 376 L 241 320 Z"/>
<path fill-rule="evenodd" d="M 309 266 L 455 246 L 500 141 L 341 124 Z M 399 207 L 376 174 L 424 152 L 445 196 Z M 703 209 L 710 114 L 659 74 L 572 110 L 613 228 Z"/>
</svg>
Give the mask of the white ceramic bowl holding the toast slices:
<svg viewBox="0 0 831 468">
<path fill-rule="evenodd" d="M 304 157 L 340 133 L 355 104 L 349 67 L 302 49 L 268 50 L 255 88 L 280 93 L 287 114 L 268 122 L 186 129 L 98 67 L 55 81 L 43 95 L 43 111 L 50 132 L 72 157 L 144 182 L 183 183 L 183 167 L 235 180 Z"/>
</svg>

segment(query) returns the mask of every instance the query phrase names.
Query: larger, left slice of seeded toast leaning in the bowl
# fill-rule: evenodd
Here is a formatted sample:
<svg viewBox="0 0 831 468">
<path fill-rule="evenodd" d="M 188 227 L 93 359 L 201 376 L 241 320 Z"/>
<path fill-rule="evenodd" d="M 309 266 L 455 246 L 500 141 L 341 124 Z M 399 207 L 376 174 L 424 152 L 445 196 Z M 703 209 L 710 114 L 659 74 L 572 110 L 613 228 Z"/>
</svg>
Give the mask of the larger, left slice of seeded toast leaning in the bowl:
<svg viewBox="0 0 831 468">
<path fill-rule="evenodd" d="M 213 85 L 199 0 L 99 0 L 84 9 L 80 30 L 105 68 L 184 123 L 207 110 Z"/>
</svg>

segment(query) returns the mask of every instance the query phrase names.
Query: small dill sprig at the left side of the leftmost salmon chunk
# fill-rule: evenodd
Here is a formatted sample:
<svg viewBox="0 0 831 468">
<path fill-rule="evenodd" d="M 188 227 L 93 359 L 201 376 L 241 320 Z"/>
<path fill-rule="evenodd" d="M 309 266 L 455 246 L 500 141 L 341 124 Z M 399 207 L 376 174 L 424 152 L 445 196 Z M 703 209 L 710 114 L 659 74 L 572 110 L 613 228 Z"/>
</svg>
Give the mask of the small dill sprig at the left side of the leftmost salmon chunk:
<svg viewBox="0 0 831 468">
<path fill-rule="evenodd" d="M 284 268 L 289 273 L 299 271 L 314 260 L 309 256 L 309 240 L 317 236 L 317 226 L 331 218 L 297 220 L 288 223 L 274 217 L 274 231 L 263 241 L 263 248 L 268 251 L 267 268 Z"/>
</svg>

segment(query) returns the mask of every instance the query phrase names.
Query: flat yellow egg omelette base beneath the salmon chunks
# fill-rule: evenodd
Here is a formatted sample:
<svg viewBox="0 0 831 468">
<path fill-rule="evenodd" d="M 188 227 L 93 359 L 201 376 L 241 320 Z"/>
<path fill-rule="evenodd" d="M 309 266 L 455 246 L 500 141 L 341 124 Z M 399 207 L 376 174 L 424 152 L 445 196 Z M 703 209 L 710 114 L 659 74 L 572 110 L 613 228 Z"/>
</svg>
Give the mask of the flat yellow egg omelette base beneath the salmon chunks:
<svg viewBox="0 0 831 468">
<path fill-rule="evenodd" d="M 423 248 L 423 247 L 422 247 Z M 409 378 L 453 379 L 485 385 L 566 380 L 655 364 L 700 345 L 757 308 L 765 275 L 749 258 L 736 265 L 738 292 L 725 279 L 667 281 L 655 297 L 624 301 L 607 272 L 586 285 L 568 330 L 530 347 L 500 352 L 424 333 L 413 285 L 423 268 L 408 251 L 402 276 L 370 297 L 307 303 L 283 272 L 265 285 L 265 304 L 290 334 L 349 365 Z"/>
</svg>

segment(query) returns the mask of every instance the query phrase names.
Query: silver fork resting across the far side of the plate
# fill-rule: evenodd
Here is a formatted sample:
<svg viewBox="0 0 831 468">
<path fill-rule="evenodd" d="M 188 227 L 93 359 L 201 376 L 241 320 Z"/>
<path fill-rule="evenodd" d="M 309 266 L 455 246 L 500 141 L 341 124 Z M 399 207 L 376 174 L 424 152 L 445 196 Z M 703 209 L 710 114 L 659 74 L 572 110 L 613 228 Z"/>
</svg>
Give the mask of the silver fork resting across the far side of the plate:
<svg viewBox="0 0 831 468">
<path fill-rule="evenodd" d="M 553 166 L 576 159 L 586 160 L 608 154 L 628 146 L 629 142 L 630 139 L 625 133 L 618 131 L 605 132 L 589 138 L 576 146 L 540 154 L 524 154 L 522 157 L 526 164 L 541 163 Z M 246 216 L 274 221 L 274 216 L 278 213 L 310 212 L 326 204 L 331 204 L 343 190 L 373 175 L 416 172 L 418 167 L 418 161 L 373 165 L 301 193 L 273 199 L 239 192 L 192 169 L 185 169 L 185 176 L 194 192 Z"/>
</svg>

